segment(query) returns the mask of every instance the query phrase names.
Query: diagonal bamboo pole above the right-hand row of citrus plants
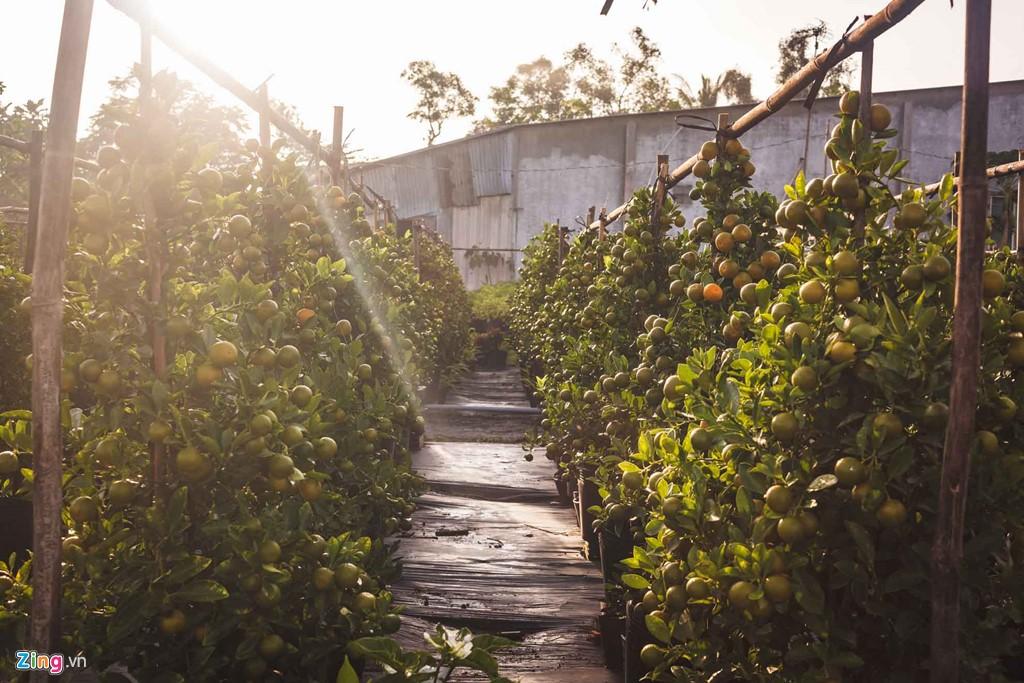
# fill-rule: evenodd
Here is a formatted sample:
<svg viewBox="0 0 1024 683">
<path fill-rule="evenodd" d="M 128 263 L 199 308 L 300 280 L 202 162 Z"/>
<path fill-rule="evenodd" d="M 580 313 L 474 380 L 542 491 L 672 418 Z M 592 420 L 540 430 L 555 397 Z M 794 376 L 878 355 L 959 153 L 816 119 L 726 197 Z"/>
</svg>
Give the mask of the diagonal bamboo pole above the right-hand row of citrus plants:
<svg viewBox="0 0 1024 683">
<path fill-rule="evenodd" d="M 907 15 L 916 9 L 925 0 L 891 0 L 881 11 L 872 14 L 869 19 L 850 32 L 846 40 L 836 48 L 833 57 L 837 61 L 842 61 L 852 54 L 859 52 L 864 44 L 874 40 L 889 29 L 893 28 Z M 816 57 L 804 65 L 804 68 L 794 74 L 788 81 L 783 83 L 778 90 L 760 102 L 746 114 L 739 117 L 732 127 L 729 128 L 729 137 L 738 137 L 758 125 L 771 115 L 778 112 L 784 104 L 796 97 L 804 88 L 824 76 L 830 67 L 828 55 L 831 50 L 825 50 Z M 674 170 L 669 176 L 669 187 L 675 187 L 679 181 L 685 178 L 693 170 L 693 165 L 700 160 L 700 155 L 693 155 Z M 608 213 L 608 221 L 617 220 L 629 209 L 629 202 L 623 204 Z M 596 226 L 595 226 L 596 227 Z"/>
</svg>

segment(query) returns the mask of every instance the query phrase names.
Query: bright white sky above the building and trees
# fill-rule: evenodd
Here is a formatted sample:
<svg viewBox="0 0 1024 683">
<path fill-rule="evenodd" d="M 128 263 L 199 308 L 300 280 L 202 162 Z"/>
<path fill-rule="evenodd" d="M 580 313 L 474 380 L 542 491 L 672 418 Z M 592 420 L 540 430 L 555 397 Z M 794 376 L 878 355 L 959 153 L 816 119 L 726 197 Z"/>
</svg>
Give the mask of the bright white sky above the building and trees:
<svg viewBox="0 0 1024 683">
<path fill-rule="evenodd" d="M 246 85 L 273 75 L 271 95 L 294 105 L 304 123 L 330 136 L 332 106 L 345 106 L 350 142 L 373 157 L 423 142 L 406 115 L 415 93 L 399 74 L 413 59 L 432 59 L 458 73 L 486 110 L 489 87 L 516 65 L 541 54 L 559 58 L 579 42 L 608 55 L 634 26 L 662 47 L 663 71 L 699 83 L 701 73 L 738 67 L 753 74 L 754 93 L 775 84 L 777 43 L 791 29 L 821 18 L 839 33 L 857 14 L 886 0 L 153 0 L 158 16 L 194 41 Z M 876 45 L 877 90 L 962 82 L 965 0 L 928 0 Z M 63 2 L 0 0 L 0 81 L 5 101 L 50 96 Z M 1024 0 L 993 0 L 993 81 L 1024 78 Z M 95 0 L 85 72 L 83 128 L 106 93 L 106 81 L 138 58 L 134 24 Z M 201 87 L 220 91 L 202 74 L 156 44 L 157 69 L 170 68 Z M 468 121 L 450 122 L 441 141 L 464 135 Z"/>
</svg>

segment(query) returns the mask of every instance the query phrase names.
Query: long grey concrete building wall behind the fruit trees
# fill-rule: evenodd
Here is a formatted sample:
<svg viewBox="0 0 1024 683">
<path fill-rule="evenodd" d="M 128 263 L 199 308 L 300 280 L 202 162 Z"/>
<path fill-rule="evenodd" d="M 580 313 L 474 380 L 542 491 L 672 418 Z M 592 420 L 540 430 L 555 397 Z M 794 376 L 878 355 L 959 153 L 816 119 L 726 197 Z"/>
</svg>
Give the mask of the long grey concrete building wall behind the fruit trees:
<svg viewBox="0 0 1024 683">
<path fill-rule="evenodd" d="M 952 167 L 959 146 L 959 86 L 876 94 L 892 110 L 899 135 L 890 141 L 909 164 L 904 175 L 927 183 Z M 690 110 L 737 119 L 748 105 Z M 781 193 L 804 166 L 826 174 L 823 146 L 836 121 L 836 98 L 819 98 L 808 116 L 793 101 L 742 137 L 758 168 L 757 189 Z M 677 125 L 680 112 L 509 126 L 359 165 L 364 182 L 388 198 L 400 220 L 423 221 L 456 249 L 470 289 L 515 278 L 521 250 L 545 222 L 578 224 L 589 207 L 611 209 L 653 178 L 657 155 L 670 166 L 688 159 L 710 133 Z M 989 150 L 1024 148 L 1024 81 L 993 83 Z M 673 188 L 687 218 L 699 213 L 687 178 Z"/>
</svg>

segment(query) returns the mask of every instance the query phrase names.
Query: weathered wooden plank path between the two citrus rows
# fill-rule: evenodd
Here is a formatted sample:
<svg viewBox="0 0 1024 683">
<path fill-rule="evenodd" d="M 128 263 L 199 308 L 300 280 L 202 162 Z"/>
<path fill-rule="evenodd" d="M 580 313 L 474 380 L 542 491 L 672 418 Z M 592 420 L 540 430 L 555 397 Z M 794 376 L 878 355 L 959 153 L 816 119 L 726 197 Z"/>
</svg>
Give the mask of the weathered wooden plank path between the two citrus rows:
<svg viewBox="0 0 1024 683">
<path fill-rule="evenodd" d="M 450 401 L 451 409 L 427 412 L 431 440 L 414 459 L 430 490 L 399 547 L 400 639 L 419 646 L 433 624 L 468 626 L 517 641 L 500 656 L 512 680 L 617 680 L 604 669 L 594 633 L 600 570 L 581 553 L 550 463 L 523 460 L 518 441 L 536 415 L 517 373 L 474 373 Z"/>
</svg>

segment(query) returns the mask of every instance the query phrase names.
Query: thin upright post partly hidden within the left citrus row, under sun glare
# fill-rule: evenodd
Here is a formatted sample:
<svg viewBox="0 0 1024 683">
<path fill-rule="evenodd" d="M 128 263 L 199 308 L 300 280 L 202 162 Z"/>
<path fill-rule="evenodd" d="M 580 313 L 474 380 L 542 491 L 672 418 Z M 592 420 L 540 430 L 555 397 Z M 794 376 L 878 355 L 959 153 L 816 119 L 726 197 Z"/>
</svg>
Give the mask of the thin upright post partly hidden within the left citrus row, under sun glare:
<svg viewBox="0 0 1024 683">
<path fill-rule="evenodd" d="M 138 78 L 138 111 L 143 121 L 153 115 L 153 31 L 150 15 L 139 22 L 139 78 Z M 144 248 L 150 266 L 148 298 L 151 312 L 148 319 L 150 339 L 153 344 L 153 374 L 160 381 L 167 378 L 167 335 L 164 327 L 164 262 L 166 254 L 166 239 L 157 219 L 152 201 L 146 198 L 138 207 L 142 211 L 145 232 Z M 152 470 L 151 494 L 159 498 L 162 485 L 164 460 L 164 444 L 152 441 L 150 443 L 150 466 Z"/>
</svg>

